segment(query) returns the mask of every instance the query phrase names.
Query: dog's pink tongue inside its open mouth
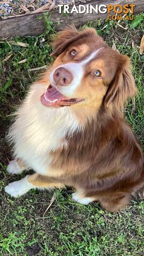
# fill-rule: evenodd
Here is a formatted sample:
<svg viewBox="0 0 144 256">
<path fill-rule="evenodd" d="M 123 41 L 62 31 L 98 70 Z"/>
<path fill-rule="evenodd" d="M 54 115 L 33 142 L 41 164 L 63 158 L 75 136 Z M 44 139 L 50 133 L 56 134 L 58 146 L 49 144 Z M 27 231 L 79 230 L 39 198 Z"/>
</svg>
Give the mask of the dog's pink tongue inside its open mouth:
<svg viewBox="0 0 144 256">
<path fill-rule="evenodd" d="M 65 96 L 62 95 L 55 87 L 48 87 L 44 95 L 47 100 L 49 99 L 52 102 L 62 100 L 63 98 L 65 98 Z"/>
</svg>

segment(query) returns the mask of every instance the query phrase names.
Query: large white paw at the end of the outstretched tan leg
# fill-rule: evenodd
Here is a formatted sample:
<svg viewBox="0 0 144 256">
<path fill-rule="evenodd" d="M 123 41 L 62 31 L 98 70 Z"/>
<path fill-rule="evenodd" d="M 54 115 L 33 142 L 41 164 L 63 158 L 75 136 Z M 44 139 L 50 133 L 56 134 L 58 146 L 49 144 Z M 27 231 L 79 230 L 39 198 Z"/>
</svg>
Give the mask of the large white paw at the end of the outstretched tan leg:
<svg viewBox="0 0 144 256">
<path fill-rule="evenodd" d="M 4 190 L 7 194 L 18 197 L 21 195 L 26 194 L 31 188 L 34 188 L 30 182 L 27 181 L 27 176 L 21 180 L 14 181 L 12 183 L 9 183 Z"/>
</svg>

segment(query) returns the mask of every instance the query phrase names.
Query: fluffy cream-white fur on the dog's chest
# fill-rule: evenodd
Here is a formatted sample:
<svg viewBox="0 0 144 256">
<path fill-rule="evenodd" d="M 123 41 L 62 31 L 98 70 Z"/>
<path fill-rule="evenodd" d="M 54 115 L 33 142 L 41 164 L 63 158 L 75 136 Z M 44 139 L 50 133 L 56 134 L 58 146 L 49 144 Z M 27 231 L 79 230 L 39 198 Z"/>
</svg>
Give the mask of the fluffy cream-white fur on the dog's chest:
<svg viewBox="0 0 144 256">
<path fill-rule="evenodd" d="M 63 143 L 65 145 L 66 135 L 76 132 L 79 124 L 69 107 L 53 109 L 43 106 L 40 100 L 42 87 L 38 95 L 34 89 L 32 87 L 18 110 L 10 138 L 14 142 L 15 157 L 22 159 L 28 168 L 47 174 L 52 160 L 49 153 Z"/>
</svg>

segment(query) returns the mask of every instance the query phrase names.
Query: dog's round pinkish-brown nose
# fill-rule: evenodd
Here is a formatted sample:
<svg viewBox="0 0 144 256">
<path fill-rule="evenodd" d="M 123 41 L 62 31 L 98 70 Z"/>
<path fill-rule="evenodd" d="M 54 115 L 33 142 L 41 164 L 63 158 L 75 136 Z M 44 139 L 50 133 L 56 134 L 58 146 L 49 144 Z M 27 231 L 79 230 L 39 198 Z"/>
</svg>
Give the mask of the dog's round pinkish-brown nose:
<svg viewBox="0 0 144 256">
<path fill-rule="evenodd" d="M 53 79 L 57 85 L 67 86 L 73 80 L 73 76 L 65 68 L 57 68 L 54 71 Z"/>
</svg>

